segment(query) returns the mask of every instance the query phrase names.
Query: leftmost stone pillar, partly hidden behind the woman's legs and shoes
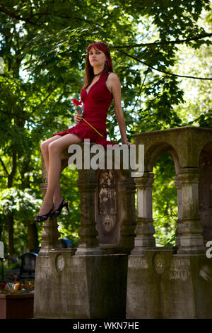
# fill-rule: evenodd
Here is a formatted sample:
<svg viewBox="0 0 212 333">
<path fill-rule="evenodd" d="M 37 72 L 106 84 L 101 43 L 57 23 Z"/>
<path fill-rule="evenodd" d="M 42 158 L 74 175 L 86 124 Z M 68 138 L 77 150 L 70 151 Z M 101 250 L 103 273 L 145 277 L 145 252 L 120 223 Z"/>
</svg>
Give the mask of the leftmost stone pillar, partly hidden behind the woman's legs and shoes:
<svg viewBox="0 0 212 333">
<path fill-rule="evenodd" d="M 40 184 L 40 190 L 42 191 L 43 198 L 45 198 L 45 193 L 47 191 L 47 184 L 48 184 L 48 174 L 43 157 L 42 157 L 42 180 L 43 183 Z M 60 233 L 57 227 L 58 227 L 57 219 L 45 220 L 44 230 L 41 235 L 42 242 L 39 254 L 45 254 L 49 252 L 51 249 L 57 248 L 58 239 L 60 237 Z"/>
</svg>

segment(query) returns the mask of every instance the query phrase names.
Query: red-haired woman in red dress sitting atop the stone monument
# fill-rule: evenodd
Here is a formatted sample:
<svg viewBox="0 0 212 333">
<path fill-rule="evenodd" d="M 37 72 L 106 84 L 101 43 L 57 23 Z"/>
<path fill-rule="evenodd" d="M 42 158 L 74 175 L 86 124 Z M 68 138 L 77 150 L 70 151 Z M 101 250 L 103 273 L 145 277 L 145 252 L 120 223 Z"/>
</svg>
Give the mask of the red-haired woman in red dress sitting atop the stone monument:
<svg viewBox="0 0 212 333">
<path fill-rule="evenodd" d="M 126 140 L 126 125 L 121 106 L 121 84 L 117 74 L 112 72 L 110 50 L 107 44 L 95 42 L 88 46 L 86 55 L 85 82 L 81 91 L 81 99 L 84 103 L 83 115 L 74 115 L 77 125 L 64 132 L 53 134 L 41 144 L 42 156 L 48 172 L 48 185 L 35 222 L 57 218 L 64 207 L 69 210 L 61 196 L 59 184 L 61 152 L 68 149 L 70 145 L 83 142 L 84 139 L 90 139 L 90 142 L 104 147 L 117 145 L 117 142 L 106 140 L 106 118 L 112 98 L 114 98 L 114 113 L 119 124 L 122 144 L 131 145 Z"/>
</svg>

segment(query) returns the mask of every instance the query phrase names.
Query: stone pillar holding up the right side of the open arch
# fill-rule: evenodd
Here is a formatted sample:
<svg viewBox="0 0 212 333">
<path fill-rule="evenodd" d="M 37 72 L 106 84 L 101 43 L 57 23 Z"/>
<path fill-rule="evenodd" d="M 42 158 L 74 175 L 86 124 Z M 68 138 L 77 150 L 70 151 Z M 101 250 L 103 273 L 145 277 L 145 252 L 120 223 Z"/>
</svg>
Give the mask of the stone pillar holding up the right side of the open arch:
<svg viewBox="0 0 212 333">
<path fill-rule="evenodd" d="M 182 218 L 179 224 L 180 247 L 178 254 L 204 253 L 204 241 L 199 218 L 199 169 L 179 169 L 182 186 Z"/>
</svg>

